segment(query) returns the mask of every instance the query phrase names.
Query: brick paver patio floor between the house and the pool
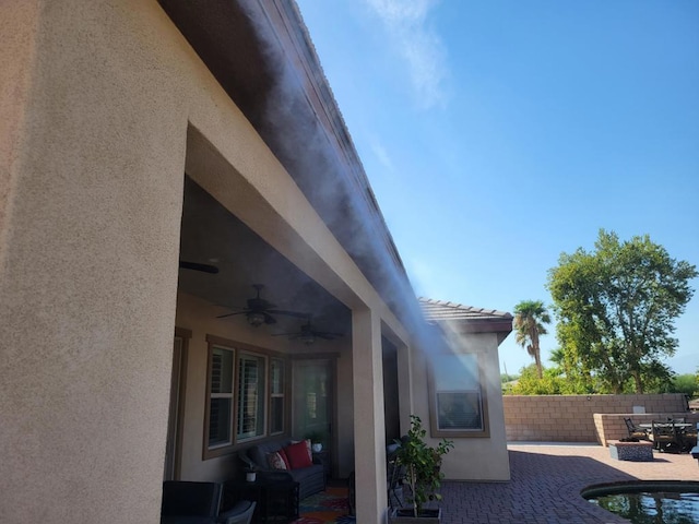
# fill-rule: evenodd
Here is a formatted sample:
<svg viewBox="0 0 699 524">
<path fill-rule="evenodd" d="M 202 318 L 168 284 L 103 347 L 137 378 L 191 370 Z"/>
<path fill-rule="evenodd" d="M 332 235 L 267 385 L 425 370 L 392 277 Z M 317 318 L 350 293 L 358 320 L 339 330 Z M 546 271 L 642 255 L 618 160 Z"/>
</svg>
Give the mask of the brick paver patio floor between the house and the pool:
<svg viewBox="0 0 699 524">
<path fill-rule="evenodd" d="M 508 450 L 511 481 L 442 484 L 442 524 L 628 524 L 580 490 L 623 480 L 699 480 L 699 465 L 687 453 L 653 452 L 653 462 L 627 462 L 592 444 L 517 443 Z"/>
</svg>

